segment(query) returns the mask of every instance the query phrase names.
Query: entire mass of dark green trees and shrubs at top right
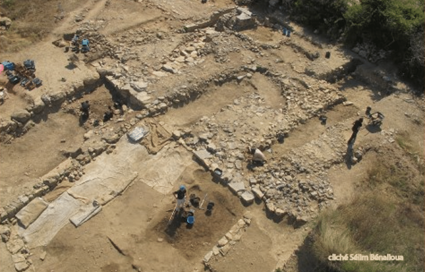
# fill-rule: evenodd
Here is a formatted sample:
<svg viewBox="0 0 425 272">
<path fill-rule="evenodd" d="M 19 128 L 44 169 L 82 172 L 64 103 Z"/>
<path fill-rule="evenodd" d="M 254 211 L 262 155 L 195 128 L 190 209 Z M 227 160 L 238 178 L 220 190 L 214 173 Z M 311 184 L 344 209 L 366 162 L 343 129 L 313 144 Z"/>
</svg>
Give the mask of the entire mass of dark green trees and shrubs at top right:
<svg viewBox="0 0 425 272">
<path fill-rule="evenodd" d="M 405 78 L 424 85 L 425 8 L 419 0 L 294 0 L 292 17 L 348 46 L 373 42 L 391 50 Z"/>
</svg>

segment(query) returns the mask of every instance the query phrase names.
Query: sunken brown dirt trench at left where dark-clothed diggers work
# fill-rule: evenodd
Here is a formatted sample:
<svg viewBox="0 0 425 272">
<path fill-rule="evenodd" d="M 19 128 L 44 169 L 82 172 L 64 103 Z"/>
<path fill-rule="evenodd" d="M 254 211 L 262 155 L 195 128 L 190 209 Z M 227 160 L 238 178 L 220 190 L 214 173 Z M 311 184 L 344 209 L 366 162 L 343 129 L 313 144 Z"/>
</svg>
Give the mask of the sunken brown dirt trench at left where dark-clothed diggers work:
<svg viewBox="0 0 425 272">
<path fill-rule="evenodd" d="M 9 203 L 24 188 L 29 190 L 34 180 L 69 156 L 68 150 L 77 150 L 81 146 L 83 135 L 89 128 L 89 124 L 79 123 L 82 101 L 90 101 L 92 119 L 102 119 L 103 113 L 117 98 L 113 90 L 101 85 L 92 91 L 76 93 L 62 103 L 46 106 L 25 124 L 12 121 L 17 124 L 16 130 L 9 134 L 3 132 L 2 138 L 6 141 L 0 144 L 0 167 L 7 169 L 2 171 L 1 204 Z"/>
</svg>

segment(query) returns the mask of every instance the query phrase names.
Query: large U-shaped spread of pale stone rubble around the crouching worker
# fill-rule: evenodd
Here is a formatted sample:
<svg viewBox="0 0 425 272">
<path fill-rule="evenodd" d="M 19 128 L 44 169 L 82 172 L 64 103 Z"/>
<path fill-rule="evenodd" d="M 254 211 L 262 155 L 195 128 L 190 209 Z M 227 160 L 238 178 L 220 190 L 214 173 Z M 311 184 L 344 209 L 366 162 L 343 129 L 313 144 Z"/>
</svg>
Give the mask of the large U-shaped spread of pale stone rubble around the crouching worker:
<svg viewBox="0 0 425 272">
<path fill-rule="evenodd" d="M 240 80 L 245 77 L 249 80 L 252 74 L 247 73 Z M 191 127 L 190 133 L 176 130 L 173 137 L 193 149 L 212 173 L 219 170 L 220 180 L 246 204 L 251 204 L 255 196 L 266 201 L 268 209 L 278 216 L 303 218 L 314 214 L 317 205 L 326 205 L 333 198 L 325 168 L 343 160 L 345 154 L 334 150 L 344 150 L 345 139 L 340 133 L 344 128 L 336 125 L 318 142 L 293 150 L 288 158 L 266 164 L 262 174 L 245 171 L 249 147 L 272 152 L 273 144 L 284 141 L 291 130 L 344 98 L 324 81 L 305 82 L 278 76 L 271 79 L 286 98 L 282 109 L 272 109 L 258 93 L 249 94 L 210 117 L 204 116 Z M 317 165 L 321 165 L 320 169 Z"/>
</svg>

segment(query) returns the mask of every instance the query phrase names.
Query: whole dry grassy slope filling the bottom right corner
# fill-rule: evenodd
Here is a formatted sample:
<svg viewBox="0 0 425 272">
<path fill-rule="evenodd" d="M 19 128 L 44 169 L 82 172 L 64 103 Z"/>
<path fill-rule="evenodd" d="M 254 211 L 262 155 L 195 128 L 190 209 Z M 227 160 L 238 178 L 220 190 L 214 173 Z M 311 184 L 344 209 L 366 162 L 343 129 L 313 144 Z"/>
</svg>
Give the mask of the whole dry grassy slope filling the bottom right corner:
<svg viewBox="0 0 425 272">
<path fill-rule="evenodd" d="M 412 150 L 405 138 L 398 142 L 403 150 Z M 312 246 L 315 257 L 332 271 L 423 272 L 423 185 L 422 171 L 411 158 L 378 162 L 368 171 L 361 195 L 320 216 Z M 332 253 L 403 255 L 404 261 L 326 261 Z"/>
</svg>

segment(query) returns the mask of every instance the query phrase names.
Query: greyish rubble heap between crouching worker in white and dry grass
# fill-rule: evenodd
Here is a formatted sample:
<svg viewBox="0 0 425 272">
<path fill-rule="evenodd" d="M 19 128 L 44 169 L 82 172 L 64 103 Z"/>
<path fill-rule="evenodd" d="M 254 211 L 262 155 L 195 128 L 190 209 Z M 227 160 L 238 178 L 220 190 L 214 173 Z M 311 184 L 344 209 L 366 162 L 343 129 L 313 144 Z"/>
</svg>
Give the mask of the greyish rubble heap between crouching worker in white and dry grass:
<svg viewBox="0 0 425 272">
<path fill-rule="evenodd" d="M 334 199 L 327 170 L 344 161 L 346 154 L 340 151 L 346 142 L 343 130 L 342 124 L 329 127 L 318 139 L 291 150 L 289 156 L 264 165 L 264 171 L 249 180 L 251 186 L 260 189 L 258 196 L 270 212 L 307 221 L 317 208 Z"/>
</svg>

